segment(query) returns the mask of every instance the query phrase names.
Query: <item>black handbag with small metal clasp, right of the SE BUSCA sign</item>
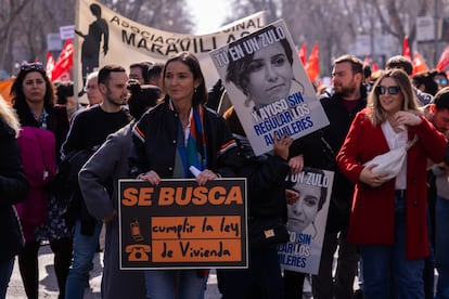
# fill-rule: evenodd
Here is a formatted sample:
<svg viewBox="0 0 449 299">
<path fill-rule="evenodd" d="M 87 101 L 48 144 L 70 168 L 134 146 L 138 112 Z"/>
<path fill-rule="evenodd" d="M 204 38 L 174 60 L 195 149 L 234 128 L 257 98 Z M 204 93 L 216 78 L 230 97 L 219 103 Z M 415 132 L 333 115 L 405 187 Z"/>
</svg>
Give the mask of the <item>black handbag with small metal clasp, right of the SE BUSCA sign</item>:
<svg viewBox="0 0 449 299">
<path fill-rule="evenodd" d="M 285 222 L 280 217 L 251 218 L 248 231 L 252 248 L 270 248 L 290 239 Z"/>
</svg>

